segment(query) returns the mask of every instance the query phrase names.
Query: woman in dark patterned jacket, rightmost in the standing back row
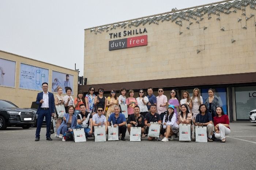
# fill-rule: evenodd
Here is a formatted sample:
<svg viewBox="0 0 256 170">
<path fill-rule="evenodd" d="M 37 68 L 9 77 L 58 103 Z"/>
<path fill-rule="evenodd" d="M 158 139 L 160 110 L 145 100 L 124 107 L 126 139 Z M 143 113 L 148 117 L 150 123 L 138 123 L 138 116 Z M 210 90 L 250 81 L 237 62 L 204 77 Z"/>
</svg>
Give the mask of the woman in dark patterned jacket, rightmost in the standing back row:
<svg viewBox="0 0 256 170">
<path fill-rule="evenodd" d="M 219 99 L 217 97 L 214 97 L 213 89 L 208 90 L 208 95 L 209 97 L 206 97 L 204 104 L 206 104 L 206 107 L 211 113 L 211 117 L 213 120 L 213 117 L 216 115 L 216 108 L 219 107 Z"/>
</svg>

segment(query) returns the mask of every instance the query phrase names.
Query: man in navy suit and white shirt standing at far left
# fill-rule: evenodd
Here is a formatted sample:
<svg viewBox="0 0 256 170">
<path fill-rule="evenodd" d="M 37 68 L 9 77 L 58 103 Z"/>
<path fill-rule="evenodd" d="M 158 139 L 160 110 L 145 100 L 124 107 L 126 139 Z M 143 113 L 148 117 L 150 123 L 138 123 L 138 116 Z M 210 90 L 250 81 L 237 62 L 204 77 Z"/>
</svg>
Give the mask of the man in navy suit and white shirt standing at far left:
<svg viewBox="0 0 256 170">
<path fill-rule="evenodd" d="M 50 137 L 51 128 L 51 117 L 54 116 L 55 104 L 53 93 L 48 92 L 48 83 L 44 82 L 42 84 L 43 92 L 37 94 L 36 104 L 37 109 L 37 131 L 35 132 L 35 141 L 40 140 L 41 126 L 45 117 L 46 121 L 46 140 L 52 140 Z"/>
</svg>

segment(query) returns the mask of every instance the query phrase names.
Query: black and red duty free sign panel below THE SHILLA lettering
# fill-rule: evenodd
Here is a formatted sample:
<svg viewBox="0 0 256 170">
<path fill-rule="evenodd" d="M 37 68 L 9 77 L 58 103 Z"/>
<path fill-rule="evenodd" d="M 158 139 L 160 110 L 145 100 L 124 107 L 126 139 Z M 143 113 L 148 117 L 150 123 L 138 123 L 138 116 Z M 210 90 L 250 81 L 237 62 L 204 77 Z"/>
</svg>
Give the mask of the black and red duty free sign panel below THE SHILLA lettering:
<svg viewBox="0 0 256 170">
<path fill-rule="evenodd" d="M 109 50 L 126 49 L 130 47 L 146 46 L 147 35 L 109 41 Z"/>
</svg>

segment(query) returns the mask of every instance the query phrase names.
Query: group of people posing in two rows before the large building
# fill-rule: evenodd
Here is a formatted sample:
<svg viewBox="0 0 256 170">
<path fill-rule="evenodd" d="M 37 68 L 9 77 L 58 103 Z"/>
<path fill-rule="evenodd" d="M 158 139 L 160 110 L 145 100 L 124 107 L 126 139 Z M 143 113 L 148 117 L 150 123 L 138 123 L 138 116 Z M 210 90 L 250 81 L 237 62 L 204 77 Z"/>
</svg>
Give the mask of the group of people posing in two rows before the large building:
<svg viewBox="0 0 256 170">
<path fill-rule="evenodd" d="M 140 89 L 138 97 L 134 97 L 134 91 L 120 89 L 120 96 L 117 97 L 116 90 L 112 89 L 109 97 L 103 96 L 104 89 L 98 89 L 98 95 L 94 94 L 95 89 L 89 88 L 88 93 L 84 97 L 82 91 L 79 91 L 75 99 L 72 98 L 72 89 L 65 88 L 66 96 L 61 96 L 63 89 L 57 88 L 58 94 L 48 92 L 48 84 L 42 84 L 43 92 L 38 93 L 36 103 L 39 105 L 37 114 L 37 131 L 36 139 L 40 139 L 40 130 L 42 120 L 46 117 L 46 140 L 50 138 L 50 120 L 54 116 L 56 120 L 56 138 L 63 138 L 67 131 L 84 128 L 87 137 L 93 137 L 95 126 L 105 126 L 106 133 L 108 125 L 118 126 L 121 140 L 125 140 L 125 133 L 129 134 L 131 127 L 141 127 L 142 138 L 148 134 L 150 122 L 157 122 L 161 125 L 159 138 L 162 142 L 174 140 L 178 136 L 179 124 L 191 125 L 191 135 L 194 126 L 205 126 L 207 128 L 207 140 L 212 142 L 212 135 L 222 143 L 226 142 L 225 135 L 230 133 L 229 118 L 219 107 L 219 100 L 214 96 L 214 90 L 209 89 L 209 97 L 203 104 L 203 98 L 200 96 L 198 88 L 193 90 L 193 96 L 190 97 L 187 91 L 181 95 L 178 100 L 176 89 L 171 90 L 170 100 L 163 94 L 163 88 L 158 88 L 158 96 L 153 94 L 153 88 L 148 88 L 148 95 L 144 94 L 144 90 Z M 63 118 L 59 118 L 54 112 L 54 105 L 64 104 L 66 113 Z M 127 104 L 128 119 L 122 114 L 120 105 Z M 168 107 L 166 107 L 168 106 Z M 167 108 L 167 109 L 166 109 Z M 177 111 L 177 108 L 180 112 Z M 148 140 L 154 140 L 154 137 L 148 136 Z"/>
</svg>

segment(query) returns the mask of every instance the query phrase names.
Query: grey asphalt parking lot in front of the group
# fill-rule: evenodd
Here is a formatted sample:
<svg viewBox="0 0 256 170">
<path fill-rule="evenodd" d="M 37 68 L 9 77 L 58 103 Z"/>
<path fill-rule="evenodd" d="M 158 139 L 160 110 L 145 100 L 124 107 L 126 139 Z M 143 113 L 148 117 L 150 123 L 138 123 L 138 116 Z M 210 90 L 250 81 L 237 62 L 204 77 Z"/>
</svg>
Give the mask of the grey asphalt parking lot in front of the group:
<svg viewBox="0 0 256 170">
<path fill-rule="evenodd" d="M 256 169 L 256 123 L 230 123 L 226 143 L 174 141 L 35 142 L 36 128 L 0 131 L 1 169 Z"/>
</svg>

